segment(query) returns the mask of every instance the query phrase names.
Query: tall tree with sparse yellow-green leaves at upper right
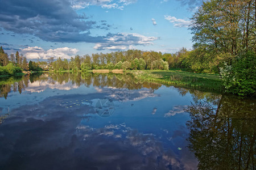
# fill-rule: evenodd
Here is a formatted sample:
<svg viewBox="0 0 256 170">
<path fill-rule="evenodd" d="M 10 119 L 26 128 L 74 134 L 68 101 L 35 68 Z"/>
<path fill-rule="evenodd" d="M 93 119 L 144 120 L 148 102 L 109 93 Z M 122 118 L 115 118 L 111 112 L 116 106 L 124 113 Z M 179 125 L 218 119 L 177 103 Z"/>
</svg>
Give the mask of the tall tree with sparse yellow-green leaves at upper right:
<svg viewBox="0 0 256 170">
<path fill-rule="evenodd" d="M 195 47 L 202 46 L 214 60 L 229 60 L 256 50 L 255 1 L 206 1 L 193 15 L 190 27 Z"/>
</svg>

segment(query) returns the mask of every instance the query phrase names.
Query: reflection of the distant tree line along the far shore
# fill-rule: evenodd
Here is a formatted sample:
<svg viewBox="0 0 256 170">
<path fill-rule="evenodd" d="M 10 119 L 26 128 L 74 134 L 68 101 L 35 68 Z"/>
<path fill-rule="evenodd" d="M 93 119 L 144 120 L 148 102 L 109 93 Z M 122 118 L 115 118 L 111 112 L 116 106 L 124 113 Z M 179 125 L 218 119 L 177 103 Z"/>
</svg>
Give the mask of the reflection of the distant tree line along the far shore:
<svg viewBox="0 0 256 170">
<path fill-rule="evenodd" d="M 138 90 L 141 88 L 150 88 L 151 92 L 157 90 L 160 86 L 159 83 L 140 82 L 135 80 L 133 76 L 127 74 L 92 74 L 92 73 L 52 73 L 52 74 L 31 74 L 19 77 L 11 77 L 0 79 L 0 97 L 7 99 L 11 91 L 17 90 L 21 94 L 26 90 L 29 83 L 38 83 L 40 87 L 44 84 L 61 85 L 72 82 L 76 87 L 82 85 L 89 87 L 114 87 L 114 88 L 127 88 L 128 90 Z"/>
</svg>

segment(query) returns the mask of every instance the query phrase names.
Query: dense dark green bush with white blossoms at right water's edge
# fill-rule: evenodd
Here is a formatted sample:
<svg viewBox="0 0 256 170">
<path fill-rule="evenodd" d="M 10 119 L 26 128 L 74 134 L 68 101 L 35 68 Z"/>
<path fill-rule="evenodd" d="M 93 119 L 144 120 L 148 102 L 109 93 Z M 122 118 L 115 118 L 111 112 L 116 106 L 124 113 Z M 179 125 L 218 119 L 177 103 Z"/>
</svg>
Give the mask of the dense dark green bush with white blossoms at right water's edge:
<svg viewBox="0 0 256 170">
<path fill-rule="evenodd" d="M 225 63 L 220 68 L 226 92 L 241 96 L 253 95 L 256 90 L 256 54 L 247 52 L 233 59 L 232 65 Z"/>
</svg>

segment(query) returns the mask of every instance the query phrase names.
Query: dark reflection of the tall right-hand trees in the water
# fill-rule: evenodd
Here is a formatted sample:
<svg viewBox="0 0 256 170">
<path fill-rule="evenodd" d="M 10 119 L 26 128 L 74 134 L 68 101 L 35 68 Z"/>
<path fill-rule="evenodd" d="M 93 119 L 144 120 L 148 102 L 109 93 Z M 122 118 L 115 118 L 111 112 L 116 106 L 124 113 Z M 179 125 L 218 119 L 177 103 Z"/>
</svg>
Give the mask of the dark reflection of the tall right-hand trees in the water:
<svg viewBox="0 0 256 170">
<path fill-rule="evenodd" d="M 219 96 L 217 103 L 197 100 L 186 111 L 191 120 L 189 149 L 199 169 L 255 168 L 255 99 Z"/>
</svg>

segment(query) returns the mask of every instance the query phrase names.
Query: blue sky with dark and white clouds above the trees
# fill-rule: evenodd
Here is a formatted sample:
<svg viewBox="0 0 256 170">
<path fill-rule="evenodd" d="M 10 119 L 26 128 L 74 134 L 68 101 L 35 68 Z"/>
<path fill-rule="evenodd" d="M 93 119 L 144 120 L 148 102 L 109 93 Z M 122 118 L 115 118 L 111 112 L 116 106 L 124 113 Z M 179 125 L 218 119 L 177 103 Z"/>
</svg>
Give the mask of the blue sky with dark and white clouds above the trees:
<svg viewBox="0 0 256 170">
<path fill-rule="evenodd" d="M 200 0 L 0 0 L 0 45 L 27 59 L 192 48 Z"/>
</svg>

